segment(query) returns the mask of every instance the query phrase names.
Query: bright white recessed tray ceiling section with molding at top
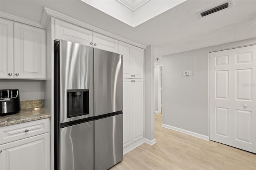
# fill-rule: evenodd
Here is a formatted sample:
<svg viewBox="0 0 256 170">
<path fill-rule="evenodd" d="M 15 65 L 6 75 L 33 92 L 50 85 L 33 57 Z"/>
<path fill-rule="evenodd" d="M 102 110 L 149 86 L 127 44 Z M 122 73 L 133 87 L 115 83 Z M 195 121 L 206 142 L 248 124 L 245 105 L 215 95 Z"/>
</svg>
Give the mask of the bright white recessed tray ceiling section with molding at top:
<svg viewBox="0 0 256 170">
<path fill-rule="evenodd" d="M 136 27 L 185 0 L 81 0 L 94 8 Z"/>
</svg>

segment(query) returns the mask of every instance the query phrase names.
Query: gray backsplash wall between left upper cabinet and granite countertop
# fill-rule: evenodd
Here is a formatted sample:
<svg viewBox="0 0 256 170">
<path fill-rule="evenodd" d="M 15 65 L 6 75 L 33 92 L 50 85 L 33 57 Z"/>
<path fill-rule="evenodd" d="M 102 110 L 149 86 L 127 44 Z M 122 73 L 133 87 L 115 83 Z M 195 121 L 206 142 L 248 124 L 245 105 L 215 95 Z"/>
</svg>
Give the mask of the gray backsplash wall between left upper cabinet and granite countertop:
<svg viewBox="0 0 256 170">
<path fill-rule="evenodd" d="M 19 89 L 20 101 L 44 99 L 44 80 L 1 79 L 0 89 Z"/>
</svg>

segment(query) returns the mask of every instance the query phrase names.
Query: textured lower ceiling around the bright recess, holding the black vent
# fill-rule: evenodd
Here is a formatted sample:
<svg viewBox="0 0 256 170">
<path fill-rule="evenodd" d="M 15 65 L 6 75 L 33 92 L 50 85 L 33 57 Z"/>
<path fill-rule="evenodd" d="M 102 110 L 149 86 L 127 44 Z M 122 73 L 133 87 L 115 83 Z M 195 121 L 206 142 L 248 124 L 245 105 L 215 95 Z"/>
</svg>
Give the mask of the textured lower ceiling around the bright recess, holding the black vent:
<svg viewBox="0 0 256 170">
<path fill-rule="evenodd" d="M 234 0 L 232 8 L 200 19 L 196 16 L 220 2 L 223 0 L 187 0 L 135 28 L 80 0 L 1 0 L 0 11 L 40 22 L 46 6 L 134 42 L 154 45 L 155 57 L 161 58 L 256 38 L 256 0 Z"/>
</svg>

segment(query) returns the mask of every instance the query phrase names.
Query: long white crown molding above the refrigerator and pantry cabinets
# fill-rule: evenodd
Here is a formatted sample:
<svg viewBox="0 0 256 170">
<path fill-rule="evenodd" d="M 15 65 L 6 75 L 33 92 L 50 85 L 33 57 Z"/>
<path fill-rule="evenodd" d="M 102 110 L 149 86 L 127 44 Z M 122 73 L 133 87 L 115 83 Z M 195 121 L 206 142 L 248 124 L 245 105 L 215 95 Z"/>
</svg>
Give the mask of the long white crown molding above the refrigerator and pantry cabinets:
<svg viewBox="0 0 256 170">
<path fill-rule="evenodd" d="M 86 24 L 85 22 L 82 22 L 80 20 L 77 20 L 75 18 L 72 18 L 70 16 L 67 16 L 65 14 L 62 14 L 60 12 L 57 12 L 57 11 L 54 11 L 54 10 L 51 10 L 50 8 L 47 8 L 47 7 L 44 7 L 44 12 L 43 12 L 43 15 L 42 15 L 42 18 L 41 18 L 41 24 L 42 24 L 42 27 L 45 28 L 46 27 L 46 24 L 48 23 L 48 20 L 50 20 L 49 17 L 54 17 L 56 19 L 60 19 L 60 20 L 63 20 L 63 21 L 66 21 L 66 22 L 70 22 L 72 24 L 75 24 L 77 26 L 80 26 L 80 27 L 83 27 L 83 28 L 86 28 L 88 30 L 91 30 L 93 32 L 97 32 L 99 34 L 103 34 L 105 36 L 108 36 L 110 38 L 114 38 L 116 40 L 119 40 L 119 41 L 122 41 L 122 42 L 126 42 L 126 43 L 130 43 L 134 46 L 137 46 L 137 47 L 140 47 L 140 48 L 143 48 L 145 49 L 146 46 L 145 45 L 142 45 L 140 43 L 136 43 L 136 42 L 133 42 L 131 40 L 128 40 L 126 38 L 123 38 L 121 36 L 117 36 L 115 34 L 112 34 L 110 32 L 107 32 L 105 30 L 102 30 L 100 28 L 97 28 L 95 26 L 92 26 L 90 24 Z"/>
</svg>

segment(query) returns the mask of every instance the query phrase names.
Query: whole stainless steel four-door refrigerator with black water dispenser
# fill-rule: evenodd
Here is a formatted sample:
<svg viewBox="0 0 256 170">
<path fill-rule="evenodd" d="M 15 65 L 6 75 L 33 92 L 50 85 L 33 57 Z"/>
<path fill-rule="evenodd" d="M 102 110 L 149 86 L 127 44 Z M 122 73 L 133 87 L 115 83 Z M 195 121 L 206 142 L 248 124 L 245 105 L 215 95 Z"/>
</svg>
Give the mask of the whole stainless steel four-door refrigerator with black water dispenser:
<svg viewBox="0 0 256 170">
<path fill-rule="evenodd" d="M 122 139 L 122 55 L 55 41 L 54 169 L 108 169 Z"/>
</svg>

